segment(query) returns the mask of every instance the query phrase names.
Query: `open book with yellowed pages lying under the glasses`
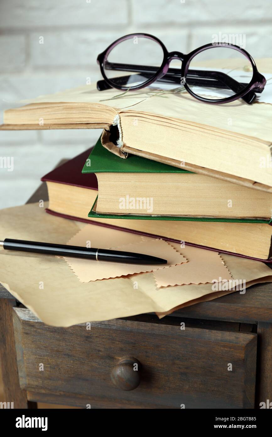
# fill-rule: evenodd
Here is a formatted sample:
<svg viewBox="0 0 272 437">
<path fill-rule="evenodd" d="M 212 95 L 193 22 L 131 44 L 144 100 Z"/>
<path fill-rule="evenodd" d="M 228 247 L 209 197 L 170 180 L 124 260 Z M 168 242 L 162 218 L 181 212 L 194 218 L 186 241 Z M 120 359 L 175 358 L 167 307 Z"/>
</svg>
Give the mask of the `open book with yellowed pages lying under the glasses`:
<svg viewBox="0 0 272 437">
<path fill-rule="evenodd" d="M 272 72 L 272 60 L 258 62 Z M 270 84 L 267 84 L 269 86 Z M 86 85 L 5 111 L 2 129 L 104 128 L 102 144 L 272 193 L 272 104 L 209 105 L 182 91 Z"/>
</svg>

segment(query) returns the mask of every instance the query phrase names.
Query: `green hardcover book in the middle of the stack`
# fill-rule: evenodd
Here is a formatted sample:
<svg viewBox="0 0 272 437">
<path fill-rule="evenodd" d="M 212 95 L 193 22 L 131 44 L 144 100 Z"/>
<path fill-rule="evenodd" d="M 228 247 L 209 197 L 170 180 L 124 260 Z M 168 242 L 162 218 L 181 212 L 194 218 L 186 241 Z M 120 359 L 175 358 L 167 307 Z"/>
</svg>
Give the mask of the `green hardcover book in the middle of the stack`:
<svg viewBox="0 0 272 437">
<path fill-rule="evenodd" d="M 252 219 L 269 223 L 272 193 L 193 173 L 140 156 L 120 158 L 98 141 L 83 173 L 96 174 L 96 214 L 137 218 Z M 212 194 L 212 195 L 211 195 Z M 128 217 L 129 218 L 129 217 Z"/>
</svg>

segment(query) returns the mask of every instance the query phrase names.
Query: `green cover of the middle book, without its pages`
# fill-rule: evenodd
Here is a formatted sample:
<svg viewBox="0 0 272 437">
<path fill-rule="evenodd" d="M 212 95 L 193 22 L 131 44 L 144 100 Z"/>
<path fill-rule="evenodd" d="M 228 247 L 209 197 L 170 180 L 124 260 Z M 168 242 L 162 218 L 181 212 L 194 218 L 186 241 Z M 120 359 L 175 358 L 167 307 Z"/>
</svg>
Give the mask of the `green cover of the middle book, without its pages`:
<svg viewBox="0 0 272 437">
<path fill-rule="evenodd" d="M 141 156 L 131 155 L 127 159 L 122 159 L 114 153 L 105 149 L 100 139 L 97 141 L 89 158 L 86 160 L 82 173 L 192 173 L 182 168 L 172 167 L 157 161 L 151 161 Z M 97 198 L 96 198 L 97 201 Z M 258 218 L 213 218 L 213 217 L 182 217 L 167 215 L 113 215 L 96 213 L 93 204 L 88 214 L 90 218 L 124 218 L 131 220 L 167 220 L 167 221 L 189 221 L 189 222 L 231 222 L 231 223 L 267 223 L 272 224 L 271 220 Z"/>
</svg>

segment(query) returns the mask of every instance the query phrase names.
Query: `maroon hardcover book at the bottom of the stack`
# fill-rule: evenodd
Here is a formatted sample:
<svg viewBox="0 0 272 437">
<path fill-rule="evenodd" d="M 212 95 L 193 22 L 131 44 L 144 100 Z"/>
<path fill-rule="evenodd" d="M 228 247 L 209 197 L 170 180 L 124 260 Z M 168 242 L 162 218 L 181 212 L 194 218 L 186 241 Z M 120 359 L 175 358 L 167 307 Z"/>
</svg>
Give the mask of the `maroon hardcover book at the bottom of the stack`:
<svg viewBox="0 0 272 437">
<path fill-rule="evenodd" d="M 95 213 L 88 217 L 98 193 L 95 174 L 81 173 L 90 151 L 91 149 L 86 150 L 41 179 L 48 186 L 49 205 L 46 212 L 93 225 L 155 236 L 173 242 L 185 241 L 192 246 L 272 262 L 272 259 L 268 260 L 271 252 L 272 226 L 266 222 L 254 223 L 252 220 L 248 222 L 241 219 L 223 222 L 220 218 L 189 217 L 183 220 L 138 220 L 131 215 L 127 218 L 116 215 L 109 218 L 97 216 Z"/>
</svg>

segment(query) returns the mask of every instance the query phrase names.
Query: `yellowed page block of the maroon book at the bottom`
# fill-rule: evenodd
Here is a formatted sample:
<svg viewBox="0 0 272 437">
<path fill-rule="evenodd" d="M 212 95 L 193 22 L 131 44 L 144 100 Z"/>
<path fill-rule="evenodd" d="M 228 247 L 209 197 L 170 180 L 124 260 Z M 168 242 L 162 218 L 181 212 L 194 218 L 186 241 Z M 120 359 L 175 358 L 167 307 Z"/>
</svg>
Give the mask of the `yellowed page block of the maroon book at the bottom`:
<svg viewBox="0 0 272 437">
<path fill-rule="evenodd" d="M 97 191 L 47 182 L 49 208 L 100 225 L 117 226 L 202 246 L 220 248 L 249 257 L 266 259 L 269 255 L 272 226 L 256 223 L 186 222 L 131 220 L 126 218 L 88 218 Z M 65 201 L 63 201 L 65 199 Z M 69 206 L 67 206 L 69 205 Z"/>
</svg>

